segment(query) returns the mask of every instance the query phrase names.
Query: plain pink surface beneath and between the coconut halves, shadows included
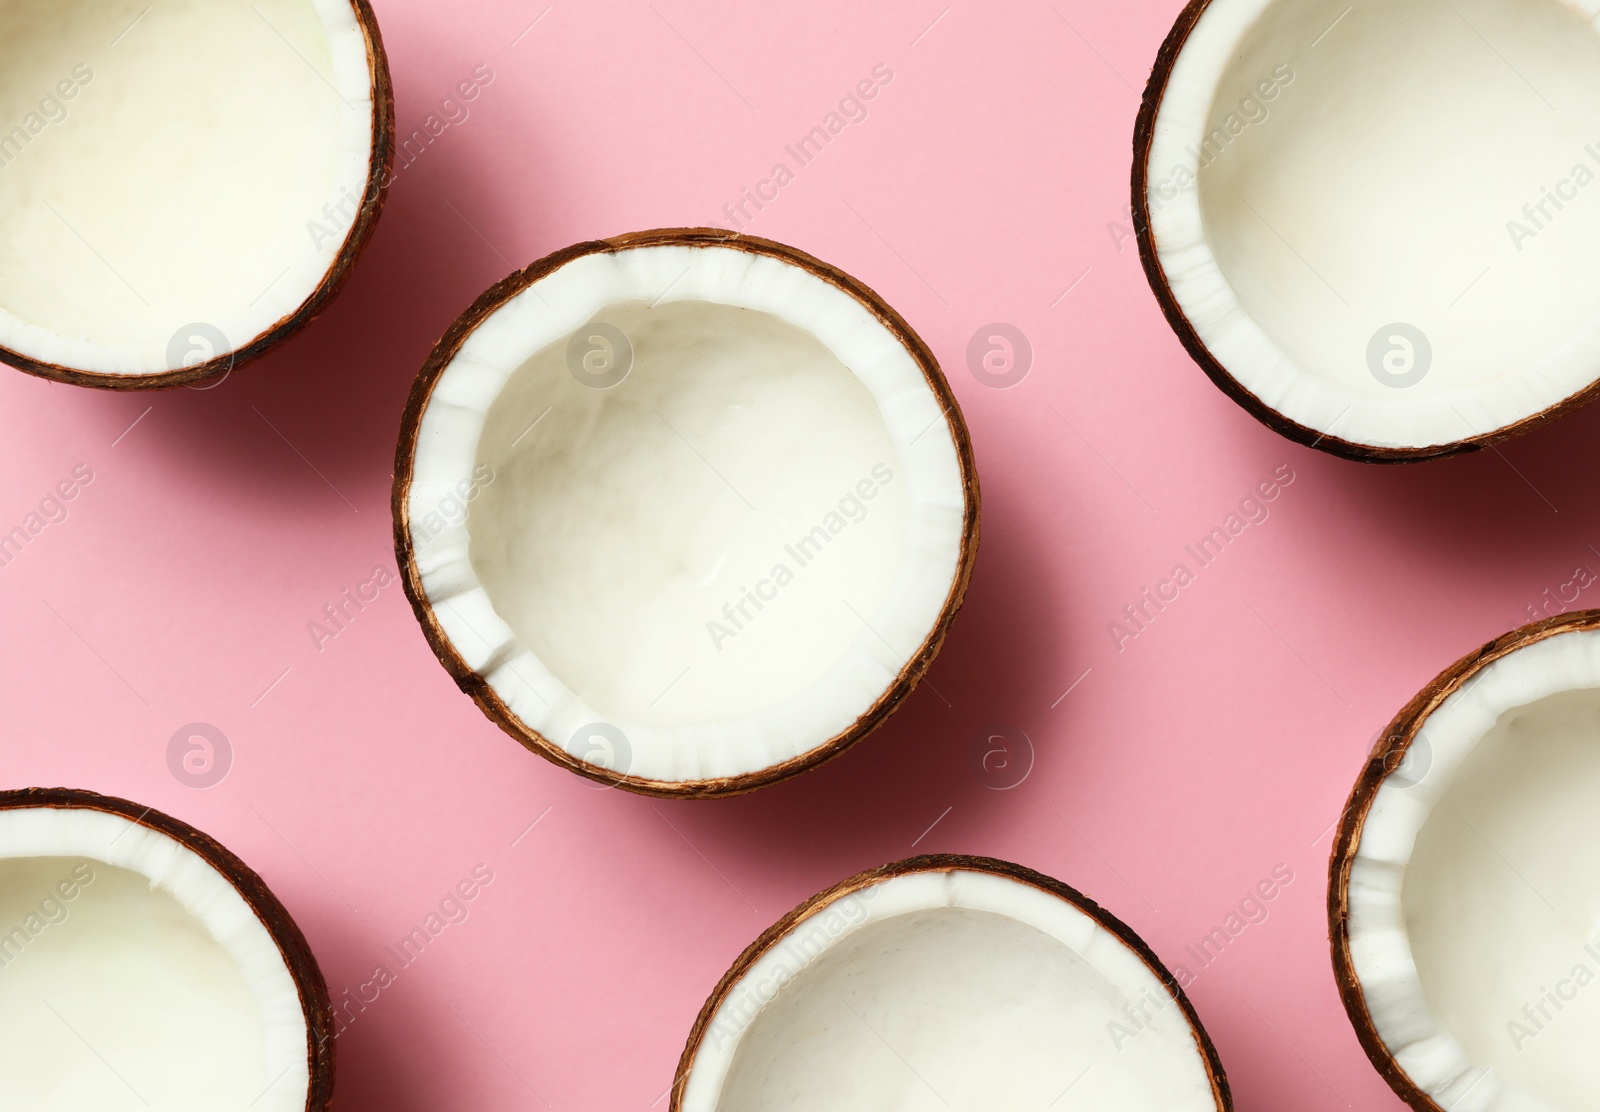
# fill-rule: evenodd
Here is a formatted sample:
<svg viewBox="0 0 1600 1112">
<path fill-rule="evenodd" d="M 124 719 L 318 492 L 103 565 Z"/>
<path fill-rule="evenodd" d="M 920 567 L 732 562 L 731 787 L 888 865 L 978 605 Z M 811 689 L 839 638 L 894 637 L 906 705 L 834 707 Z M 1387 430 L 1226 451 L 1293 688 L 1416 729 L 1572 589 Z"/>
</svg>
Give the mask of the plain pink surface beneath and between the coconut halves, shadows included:
<svg viewBox="0 0 1600 1112">
<path fill-rule="evenodd" d="M 400 173 L 309 333 L 210 390 L 0 374 L 0 530 L 94 472 L 0 570 L 0 784 L 112 792 L 208 830 L 288 904 L 336 997 L 493 869 L 470 918 L 341 1037 L 347 1109 L 664 1107 L 696 1011 L 760 930 L 923 851 L 1059 877 L 1170 965 L 1288 866 L 1270 917 L 1190 989 L 1237 1104 L 1398 1109 L 1330 974 L 1330 824 L 1422 683 L 1600 568 L 1600 411 L 1376 469 L 1224 398 L 1157 312 L 1125 216 L 1138 91 L 1179 0 L 376 6 L 402 133 L 475 66 L 494 80 Z M 798 781 L 664 803 L 507 739 L 398 587 L 318 651 L 307 622 L 392 568 L 400 410 L 472 298 L 578 240 L 722 221 L 877 64 L 894 77 L 870 117 L 749 230 L 877 288 L 971 424 L 978 570 L 899 715 Z M 992 322 L 1035 350 L 1013 389 L 966 368 Z M 1118 651 L 1107 624 L 1285 464 L 1270 518 Z M 206 790 L 168 771 L 190 722 L 235 750 Z M 1037 754 L 1011 790 L 973 771 L 995 723 Z"/>
</svg>

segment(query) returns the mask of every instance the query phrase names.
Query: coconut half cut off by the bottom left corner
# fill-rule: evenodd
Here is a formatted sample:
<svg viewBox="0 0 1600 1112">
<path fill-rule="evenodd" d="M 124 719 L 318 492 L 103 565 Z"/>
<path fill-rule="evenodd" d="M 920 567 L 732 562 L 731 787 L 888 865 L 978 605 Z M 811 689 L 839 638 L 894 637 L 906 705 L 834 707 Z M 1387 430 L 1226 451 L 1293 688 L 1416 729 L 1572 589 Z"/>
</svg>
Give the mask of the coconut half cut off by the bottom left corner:
<svg viewBox="0 0 1600 1112">
<path fill-rule="evenodd" d="M 126 800 L 0 792 L 0 1107 L 309 1112 L 331 1096 L 328 990 L 261 877 Z"/>
</svg>

